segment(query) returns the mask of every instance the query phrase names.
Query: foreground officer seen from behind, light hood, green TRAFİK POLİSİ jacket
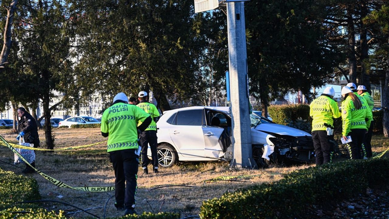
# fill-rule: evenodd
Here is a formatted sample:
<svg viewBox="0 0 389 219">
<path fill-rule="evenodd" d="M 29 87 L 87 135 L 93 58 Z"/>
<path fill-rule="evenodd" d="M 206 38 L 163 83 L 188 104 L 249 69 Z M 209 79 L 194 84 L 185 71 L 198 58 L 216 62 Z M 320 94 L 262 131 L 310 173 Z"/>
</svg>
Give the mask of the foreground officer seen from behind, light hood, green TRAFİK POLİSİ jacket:
<svg viewBox="0 0 389 219">
<path fill-rule="evenodd" d="M 124 215 L 136 214 L 134 208 L 140 153 L 138 132 L 149 126 L 151 117 L 137 106 L 128 104 L 124 93 L 117 94 L 113 102 L 103 113 L 101 134 L 108 137 L 107 152 L 115 171 L 115 207 L 117 210 L 125 209 Z M 138 122 L 142 124 L 137 127 Z"/>
</svg>

